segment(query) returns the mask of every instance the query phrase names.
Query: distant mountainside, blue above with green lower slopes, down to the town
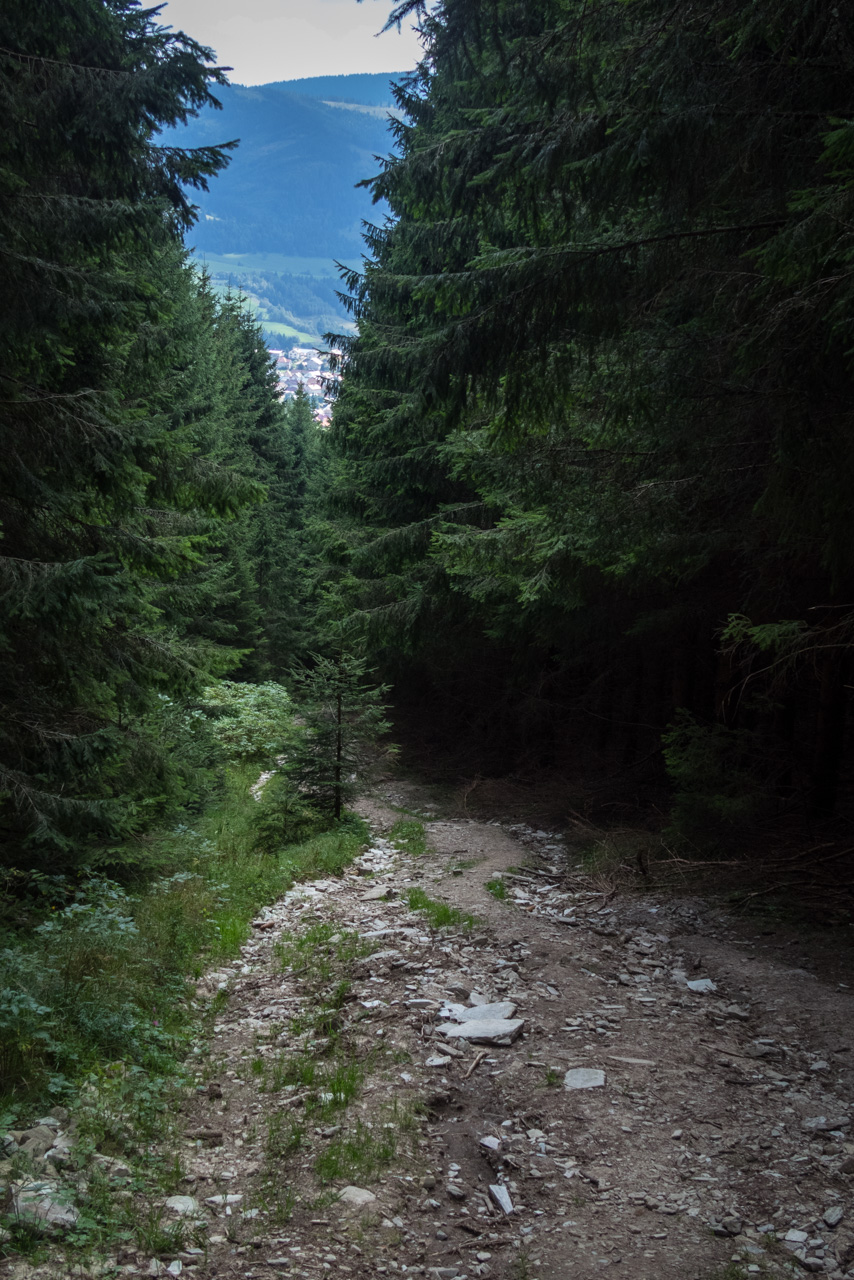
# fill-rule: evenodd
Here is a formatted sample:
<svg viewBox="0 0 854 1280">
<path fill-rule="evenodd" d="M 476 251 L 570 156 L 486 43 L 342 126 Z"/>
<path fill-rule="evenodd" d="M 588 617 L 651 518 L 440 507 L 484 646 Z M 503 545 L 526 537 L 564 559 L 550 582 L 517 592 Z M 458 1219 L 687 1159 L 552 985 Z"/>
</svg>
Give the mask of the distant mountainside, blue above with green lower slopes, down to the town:
<svg viewBox="0 0 854 1280">
<path fill-rule="evenodd" d="M 168 137 L 186 147 L 239 138 L 210 191 L 192 193 L 201 216 L 187 243 L 214 283 L 248 294 L 282 338 L 298 332 L 303 340 L 346 319 L 334 262 L 359 262 L 362 223 L 385 218 L 357 183 L 392 150 L 383 109 L 397 74 L 230 84 L 218 90 L 220 111 L 205 110 Z M 286 260 L 280 271 L 271 269 L 277 259 Z M 291 268 L 288 259 L 314 264 Z"/>
</svg>

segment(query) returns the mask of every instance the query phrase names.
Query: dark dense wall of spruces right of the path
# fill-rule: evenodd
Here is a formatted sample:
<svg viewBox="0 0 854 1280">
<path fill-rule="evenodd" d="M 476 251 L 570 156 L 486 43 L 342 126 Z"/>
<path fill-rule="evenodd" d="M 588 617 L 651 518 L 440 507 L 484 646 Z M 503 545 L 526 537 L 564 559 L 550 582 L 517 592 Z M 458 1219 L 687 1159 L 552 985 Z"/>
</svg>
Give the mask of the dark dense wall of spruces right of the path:
<svg viewBox="0 0 854 1280">
<path fill-rule="evenodd" d="M 705 846 L 850 814 L 850 14 L 411 14 L 335 416 L 408 724 Z"/>
</svg>

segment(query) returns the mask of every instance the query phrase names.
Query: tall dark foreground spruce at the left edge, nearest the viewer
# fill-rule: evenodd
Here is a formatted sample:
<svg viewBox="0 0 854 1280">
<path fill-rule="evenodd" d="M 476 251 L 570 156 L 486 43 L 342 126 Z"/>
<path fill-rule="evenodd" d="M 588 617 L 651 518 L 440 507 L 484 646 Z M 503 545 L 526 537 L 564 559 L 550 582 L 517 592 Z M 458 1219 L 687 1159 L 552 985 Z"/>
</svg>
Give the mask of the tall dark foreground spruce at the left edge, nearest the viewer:
<svg viewBox="0 0 854 1280">
<path fill-rule="evenodd" d="M 86 856 L 138 827 L 141 771 L 161 768 L 141 721 L 157 691 L 224 663 L 186 643 L 186 600 L 164 600 L 200 561 L 192 513 L 227 517 L 257 492 L 211 454 L 189 404 L 197 301 L 181 233 L 187 188 L 225 151 L 156 141 L 215 102 L 210 61 L 129 0 L 4 10 L 0 829 L 13 861 Z"/>
</svg>

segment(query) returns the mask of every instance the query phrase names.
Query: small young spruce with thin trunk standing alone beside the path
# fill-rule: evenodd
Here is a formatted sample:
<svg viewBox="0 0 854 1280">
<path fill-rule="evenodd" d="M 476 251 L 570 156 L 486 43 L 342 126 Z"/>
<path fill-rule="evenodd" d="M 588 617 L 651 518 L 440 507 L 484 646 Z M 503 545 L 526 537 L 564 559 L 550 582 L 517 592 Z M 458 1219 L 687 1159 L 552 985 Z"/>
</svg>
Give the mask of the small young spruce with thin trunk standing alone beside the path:
<svg viewBox="0 0 854 1280">
<path fill-rule="evenodd" d="M 388 685 L 371 685 L 371 671 L 356 654 L 315 655 L 314 666 L 294 673 L 294 694 L 305 735 L 291 754 L 288 771 L 315 805 L 341 818 L 344 801 L 378 758 L 389 728 L 383 698 Z"/>
</svg>

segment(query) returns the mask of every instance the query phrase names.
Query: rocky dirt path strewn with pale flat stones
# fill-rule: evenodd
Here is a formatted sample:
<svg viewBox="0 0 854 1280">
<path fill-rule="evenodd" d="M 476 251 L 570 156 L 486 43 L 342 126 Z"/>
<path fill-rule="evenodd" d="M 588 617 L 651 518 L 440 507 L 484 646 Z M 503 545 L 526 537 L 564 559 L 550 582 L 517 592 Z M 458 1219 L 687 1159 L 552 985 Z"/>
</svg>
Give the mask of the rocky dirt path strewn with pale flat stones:
<svg viewBox="0 0 854 1280">
<path fill-rule="evenodd" d="M 207 975 L 184 1247 L 119 1272 L 854 1277 L 851 991 L 552 832 L 434 814 L 415 856 L 419 799 Z"/>
</svg>

